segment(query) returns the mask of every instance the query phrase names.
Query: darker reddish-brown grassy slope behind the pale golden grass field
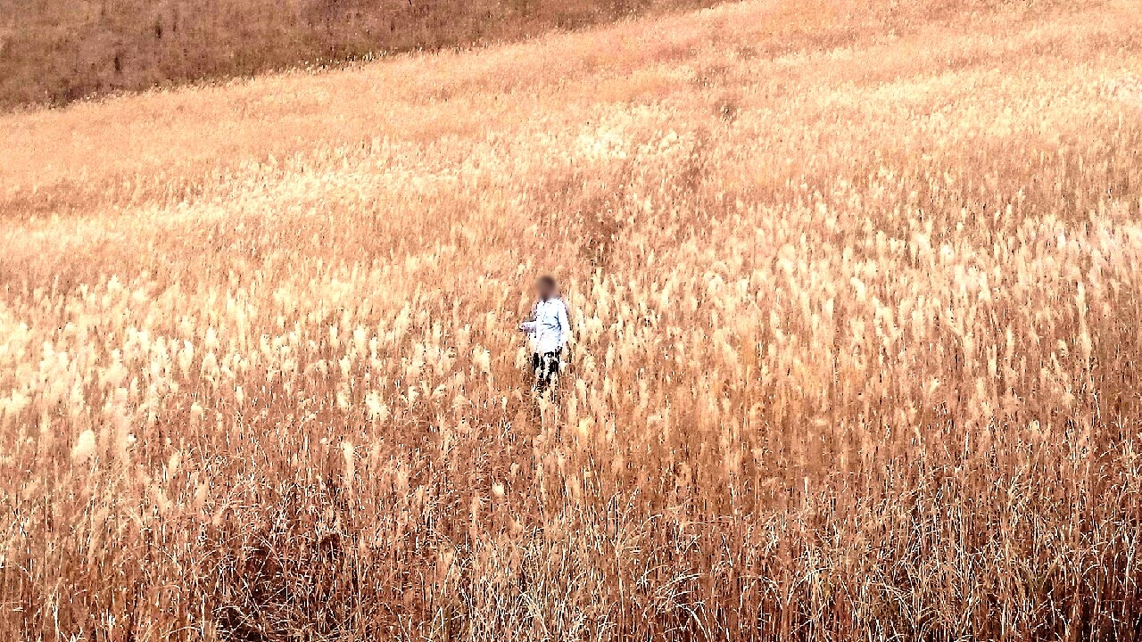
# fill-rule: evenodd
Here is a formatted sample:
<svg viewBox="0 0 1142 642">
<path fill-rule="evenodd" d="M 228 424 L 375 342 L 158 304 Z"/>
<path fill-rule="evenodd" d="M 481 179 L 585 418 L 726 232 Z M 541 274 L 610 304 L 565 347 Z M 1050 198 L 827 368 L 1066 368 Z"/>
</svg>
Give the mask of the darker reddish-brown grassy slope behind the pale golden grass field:
<svg viewBox="0 0 1142 642">
<path fill-rule="evenodd" d="M 0 107 L 488 45 L 698 0 L 0 0 Z"/>
</svg>

